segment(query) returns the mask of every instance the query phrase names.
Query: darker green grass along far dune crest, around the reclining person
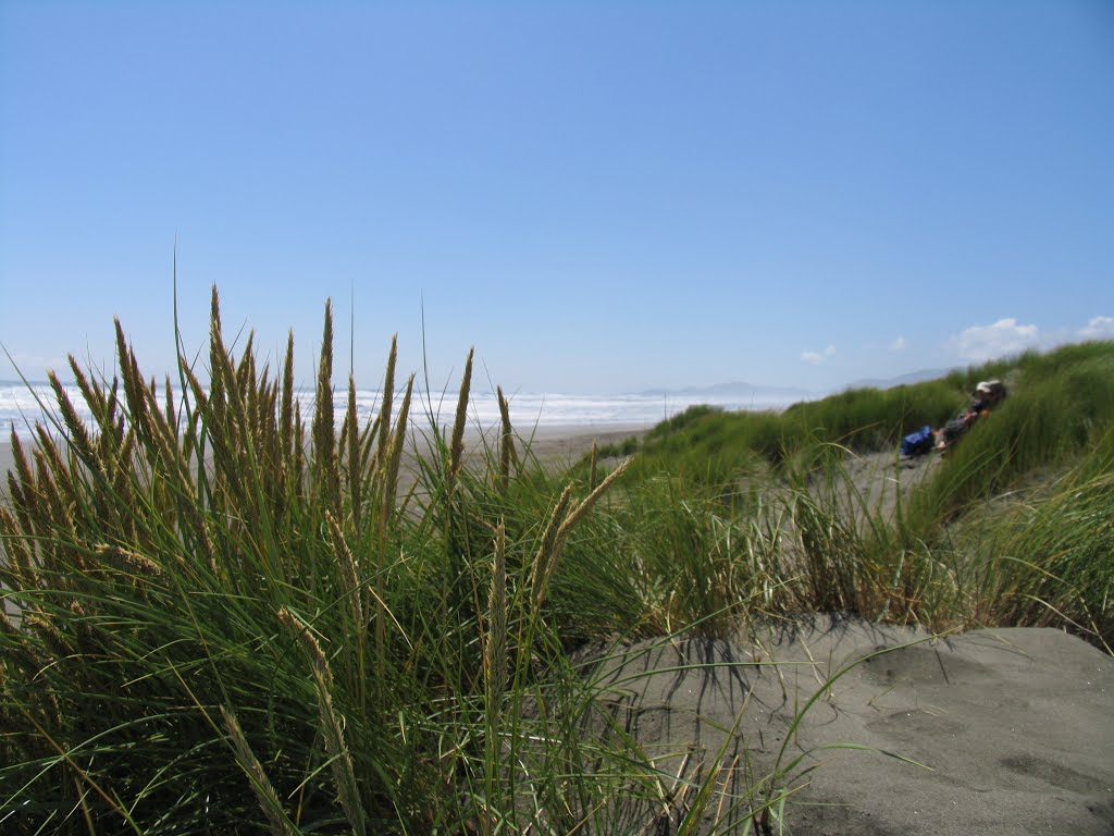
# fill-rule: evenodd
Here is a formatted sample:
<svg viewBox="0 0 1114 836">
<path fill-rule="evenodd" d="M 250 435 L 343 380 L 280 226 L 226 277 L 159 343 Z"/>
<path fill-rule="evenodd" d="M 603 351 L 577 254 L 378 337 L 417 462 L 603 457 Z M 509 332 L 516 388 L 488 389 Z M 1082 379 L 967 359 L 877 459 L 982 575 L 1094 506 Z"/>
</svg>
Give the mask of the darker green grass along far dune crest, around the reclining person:
<svg viewBox="0 0 1114 836">
<path fill-rule="evenodd" d="M 1004 447 L 1022 456 L 1014 467 L 1016 474 L 1055 455 L 1077 453 L 1094 437 L 1093 428 L 1112 411 L 1112 343 L 1087 342 L 1047 354 L 1029 352 L 1014 360 L 988 362 L 909 386 L 849 389 L 794 404 L 781 412 L 727 412 L 693 406 L 655 426 L 641 445 L 634 440 L 613 445 L 606 454 L 637 449 L 638 468 L 685 474 L 705 483 L 730 480 L 752 470 L 756 461 L 780 467 L 802 451 L 812 455 L 817 448 L 831 445 L 857 453 L 896 448 L 902 436 L 926 424 L 944 426 L 967 405 L 977 381 L 999 378 L 1010 391 L 1024 395 L 1020 400 L 1026 404 L 1027 420 L 1035 425 L 1029 430 L 1035 435 Z M 1019 410 L 1017 401 L 1008 398 L 1000 409 L 1007 415 Z M 1044 421 L 1044 429 L 1038 421 Z M 1005 431 L 1005 424 L 996 414 L 995 421 L 984 421 L 980 427 L 997 426 L 998 431 Z"/>
</svg>

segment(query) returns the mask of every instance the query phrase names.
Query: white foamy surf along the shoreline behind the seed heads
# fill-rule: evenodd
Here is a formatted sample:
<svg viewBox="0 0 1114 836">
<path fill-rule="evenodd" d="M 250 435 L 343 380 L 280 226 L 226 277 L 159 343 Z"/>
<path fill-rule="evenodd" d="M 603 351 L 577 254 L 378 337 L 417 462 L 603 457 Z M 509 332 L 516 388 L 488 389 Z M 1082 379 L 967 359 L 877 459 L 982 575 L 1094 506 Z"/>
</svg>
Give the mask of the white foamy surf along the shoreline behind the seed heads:
<svg viewBox="0 0 1114 836">
<path fill-rule="evenodd" d="M 66 391 L 78 415 L 89 422 L 91 414 L 75 386 Z M 123 398 L 123 392 L 120 395 Z M 401 393 L 397 396 L 397 399 Z M 620 427 L 651 426 L 665 418 L 682 412 L 696 404 L 707 404 L 727 410 L 775 409 L 786 406 L 786 401 L 754 397 L 731 398 L 709 395 L 575 395 L 512 392 L 508 396 L 510 417 L 519 431 L 534 427 L 560 429 L 563 427 Z M 303 390 L 297 393 L 302 415 L 306 420 L 313 414 L 314 393 Z M 180 398 L 175 392 L 175 402 Z M 361 421 L 373 417 L 380 409 L 382 392 L 374 389 L 358 389 L 356 412 Z M 398 402 L 395 400 L 395 402 Z M 336 424 L 343 420 L 348 408 L 348 390 L 338 387 L 333 396 Z M 411 419 L 421 424 L 423 417 L 432 415 L 441 425 L 451 424 L 457 408 L 457 392 L 416 393 L 411 407 Z M 47 383 L 0 382 L 0 440 L 6 441 L 12 427 L 20 438 L 33 435 L 38 421 L 53 430 L 58 408 L 53 390 Z M 53 416 L 53 418 L 52 418 Z M 469 421 L 473 426 L 487 428 L 499 422 L 499 404 L 495 392 L 473 391 L 469 399 Z"/>
</svg>

